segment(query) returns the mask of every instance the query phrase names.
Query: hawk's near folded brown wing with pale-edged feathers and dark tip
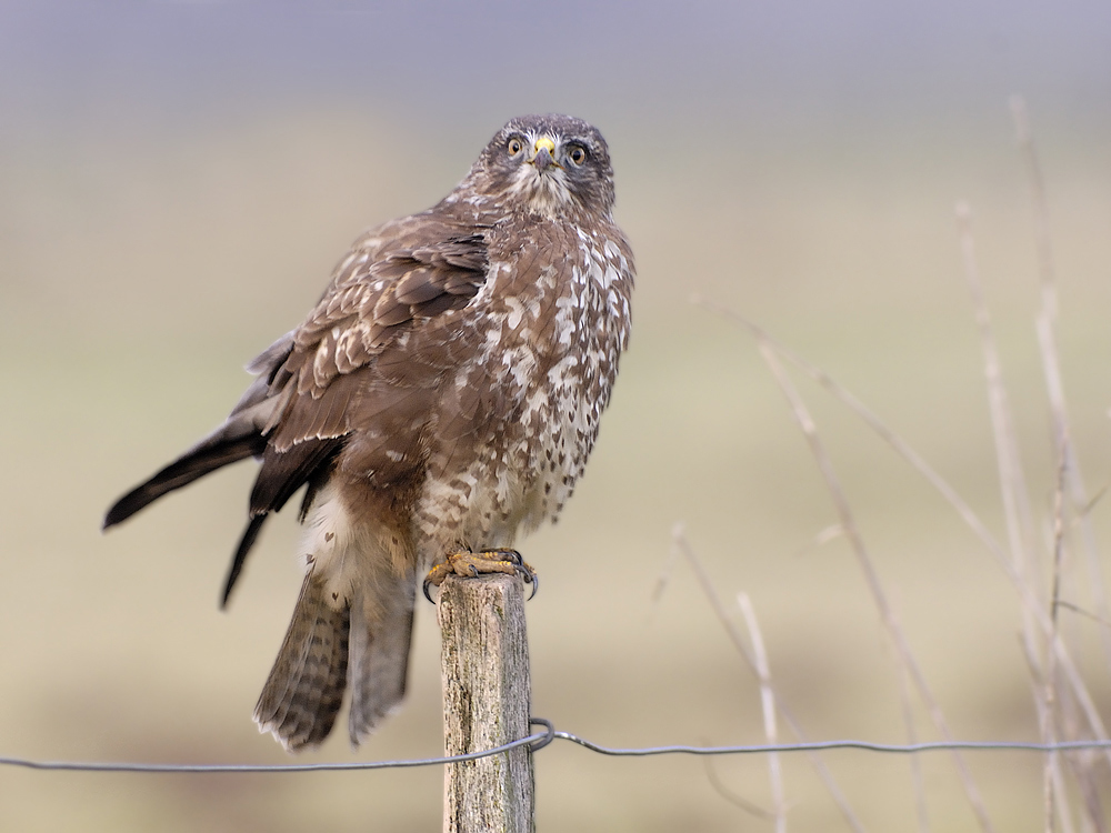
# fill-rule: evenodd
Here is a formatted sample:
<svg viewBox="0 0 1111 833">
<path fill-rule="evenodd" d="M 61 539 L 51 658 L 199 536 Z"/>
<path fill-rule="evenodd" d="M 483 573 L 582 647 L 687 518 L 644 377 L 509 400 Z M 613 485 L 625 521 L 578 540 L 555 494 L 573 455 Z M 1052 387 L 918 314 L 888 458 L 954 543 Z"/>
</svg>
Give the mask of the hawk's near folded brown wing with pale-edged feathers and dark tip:
<svg viewBox="0 0 1111 833">
<path fill-rule="evenodd" d="M 401 227 L 400 229 L 398 227 Z M 368 234 L 337 269 L 323 298 L 272 368 L 266 449 L 251 492 L 251 522 L 232 560 L 224 600 L 266 516 L 302 485 L 302 515 L 359 430 L 356 456 L 377 485 L 420 464 L 420 426 L 434 388 L 458 357 L 443 339 L 413 331 L 467 305 L 486 280 L 480 233 L 418 214 Z"/>
</svg>

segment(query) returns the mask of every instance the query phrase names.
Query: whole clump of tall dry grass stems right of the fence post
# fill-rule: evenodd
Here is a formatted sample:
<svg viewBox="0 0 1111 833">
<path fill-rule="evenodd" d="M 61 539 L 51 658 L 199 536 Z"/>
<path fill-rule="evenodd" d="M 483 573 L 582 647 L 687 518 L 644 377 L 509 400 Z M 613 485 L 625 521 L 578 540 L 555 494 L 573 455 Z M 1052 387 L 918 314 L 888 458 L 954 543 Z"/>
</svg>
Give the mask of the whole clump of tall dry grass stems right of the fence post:
<svg viewBox="0 0 1111 833">
<path fill-rule="evenodd" d="M 923 478 L 951 506 L 988 551 L 1013 588 L 1021 616 L 1020 643 L 1022 655 L 1030 671 L 1032 700 L 1038 730 L 1043 743 L 1084 739 L 1108 740 L 1108 731 L 1100 710 L 1073 660 L 1073 640 L 1090 633 L 1090 628 L 1079 621 L 1062 620 L 1061 611 L 1068 610 L 1091 619 L 1099 628 L 1098 636 L 1085 636 L 1079 646 L 1088 649 L 1099 640 L 1103 662 L 1111 670 L 1111 602 L 1109 602 L 1104 568 L 1101 561 L 1092 509 L 1109 486 L 1089 498 L 1074 445 L 1065 398 L 1059 338 L 1060 303 L 1055 263 L 1050 234 L 1049 201 L 1044 179 L 1030 130 L 1030 119 L 1021 98 L 1011 100 L 1015 136 L 1027 172 L 1033 210 L 1033 235 L 1039 277 L 1039 302 L 1034 315 L 1034 330 L 1041 361 L 1045 398 L 1052 425 L 1054 452 L 1054 482 L 1050 529 L 1039 534 L 1035 512 L 1030 500 L 1030 483 L 1024 471 L 1014 410 L 1003 379 L 999 345 L 992 328 L 989 305 L 977 261 L 975 240 L 972 232 L 971 209 L 965 203 L 955 207 L 958 237 L 964 279 L 971 295 L 980 341 L 982 371 L 987 392 L 988 411 L 994 444 L 999 494 L 1005 523 L 1005 545 L 974 512 L 968 501 L 942 478 L 901 436 L 857 397 L 838 384 L 820 368 L 773 340 L 762 328 L 742 315 L 717 303 L 702 299 L 694 302 L 745 328 L 753 335 L 761 357 L 767 363 L 789 411 L 801 430 L 810 453 L 819 469 L 837 515 L 832 525 L 822 530 L 809 544 L 820 546 L 843 536 L 858 561 L 865 585 L 872 596 L 880 622 L 888 636 L 888 645 L 899 666 L 898 682 L 900 706 L 907 734 L 911 743 L 918 741 L 914 695 L 925 707 L 934 729 L 945 740 L 953 741 L 953 733 L 938 700 L 925 681 L 914 658 L 907 635 L 894 614 L 890 599 L 880 579 L 875 563 L 865 546 L 854 512 L 842 486 L 831 456 L 814 420 L 800 395 L 785 365 L 801 371 L 819 387 L 854 413 L 889 448 L 895 451 Z M 1039 512 L 1038 516 L 1042 516 Z M 740 614 L 748 629 L 747 640 L 722 605 L 701 562 L 694 555 L 681 526 L 673 531 L 674 555 L 669 559 L 654 596 L 658 599 L 670 578 L 674 559 L 687 558 L 710 605 L 725 628 L 750 671 L 760 684 L 764 732 L 770 744 L 777 742 L 777 711 L 799 740 L 803 740 L 798 723 L 783 707 L 772 686 L 768 658 L 759 623 L 751 600 L 738 596 Z M 1081 566 L 1081 562 L 1083 566 Z M 1075 601 L 1065 601 L 1074 598 Z M 1087 606 L 1085 606 L 1087 605 Z M 1089 610 L 1090 608 L 1090 610 Z M 1081 655 L 1084 655 L 1081 652 Z M 972 779 L 964 757 L 953 751 L 953 764 L 969 805 L 983 831 L 993 831 L 983 800 Z M 831 795 L 854 829 L 859 822 L 851 814 L 847 802 L 832 782 L 824 765 L 811 759 Z M 769 757 L 771 791 L 774 802 L 777 833 L 787 825 L 780 757 Z M 911 756 L 911 776 L 914 786 L 915 809 L 920 833 L 928 833 L 929 816 L 924 779 L 918 757 Z M 1111 764 L 1111 750 L 1102 755 L 1094 751 L 1047 752 L 1042 766 L 1043 829 L 1047 833 L 1073 833 L 1077 825 L 1082 833 L 1105 833 L 1108 824 L 1101 806 L 1101 795 L 1107 793 L 1104 767 Z M 723 793 L 724 794 L 724 793 Z"/>
</svg>

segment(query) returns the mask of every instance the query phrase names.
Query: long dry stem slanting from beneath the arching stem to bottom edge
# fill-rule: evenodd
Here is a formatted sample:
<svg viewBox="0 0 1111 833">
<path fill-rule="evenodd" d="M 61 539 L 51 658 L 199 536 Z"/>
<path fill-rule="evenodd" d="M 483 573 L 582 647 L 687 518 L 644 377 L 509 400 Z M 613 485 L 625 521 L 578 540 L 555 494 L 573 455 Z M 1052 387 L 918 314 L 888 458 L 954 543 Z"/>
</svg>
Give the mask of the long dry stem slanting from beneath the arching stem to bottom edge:
<svg viewBox="0 0 1111 833">
<path fill-rule="evenodd" d="M 845 538 L 852 545 L 852 550 L 857 555 L 861 571 L 864 573 L 864 580 L 872 594 L 872 601 L 880 613 L 880 621 L 894 645 L 897 656 L 907 673 L 910 675 L 910 679 L 913 682 L 914 688 L 918 690 L 922 702 L 925 704 L 934 727 L 947 741 L 955 740 L 952 730 L 949 727 L 949 722 L 945 720 L 944 714 L 941 711 L 941 706 L 938 703 L 937 697 L 933 696 L 933 692 L 930 690 L 930 686 L 925 681 L 925 675 L 922 673 L 918 661 L 914 659 L 914 655 L 910 650 L 910 644 L 907 642 L 905 634 L 902 632 L 902 629 L 894 619 L 891 605 L 888 602 L 887 593 L 883 590 L 883 584 L 880 581 L 879 573 L 875 571 L 875 565 L 873 564 L 872 559 L 868 553 L 868 549 L 864 545 L 864 540 L 860 534 L 855 518 L 849 506 L 848 498 L 845 496 L 844 490 L 841 488 L 840 480 L 833 470 L 833 463 L 825 451 L 825 446 L 818 435 L 818 429 L 814 425 L 814 421 L 811 418 L 810 412 L 807 410 L 805 404 L 802 402 L 802 398 L 799 395 L 798 390 L 795 390 L 790 378 L 787 375 L 787 371 L 780 363 L 775 348 L 764 339 L 758 339 L 757 343 L 760 349 L 760 354 L 768 363 L 768 367 L 771 370 L 772 375 L 775 378 L 780 390 L 788 400 L 792 415 L 799 423 L 799 428 L 805 436 L 807 443 L 810 445 L 810 451 L 814 456 L 814 461 L 818 463 L 818 469 L 821 471 L 822 478 L 825 481 L 827 490 L 829 491 L 830 498 L 835 506 L 840 525 L 844 530 Z M 970 806 L 972 807 L 972 812 L 977 816 L 980 827 L 984 831 L 993 831 L 994 826 L 991 823 L 991 819 L 988 816 L 987 807 L 984 806 L 980 791 L 972 779 L 972 773 L 969 770 L 963 755 L 957 751 L 953 751 L 953 764 L 957 767 L 957 773 L 960 777 L 961 785 L 964 789 L 964 794 L 968 797 Z"/>
</svg>

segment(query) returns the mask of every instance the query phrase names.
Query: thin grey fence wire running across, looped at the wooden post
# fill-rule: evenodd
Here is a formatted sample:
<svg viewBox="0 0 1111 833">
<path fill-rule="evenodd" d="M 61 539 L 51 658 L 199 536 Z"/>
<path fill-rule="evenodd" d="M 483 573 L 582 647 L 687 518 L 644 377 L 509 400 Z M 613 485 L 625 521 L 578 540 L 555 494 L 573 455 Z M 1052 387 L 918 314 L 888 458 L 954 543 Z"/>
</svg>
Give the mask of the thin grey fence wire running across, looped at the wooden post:
<svg viewBox="0 0 1111 833">
<path fill-rule="evenodd" d="M 1111 749 L 1111 741 L 1060 741 L 1037 743 L 1025 741 L 939 741 L 935 743 L 872 743 L 870 741 L 814 741 L 810 743 L 775 743 L 739 746 L 643 746 L 622 749 L 603 746 L 571 732 L 557 731 L 550 721 L 533 717 L 533 725 L 543 726 L 520 740 L 483 750 L 447 757 L 414 757 L 401 761 L 352 761 L 350 763 L 310 764 L 158 764 L 126 762 L 81 762 L 81 761 L 33 761 L 24 757 L 0 756 L 0 766 L 20 766 L 29 770 L 54 770 L 76 772 L 137 772 L 137 773 L 283 773 L 283 772 L 337 772 L 352 770 L 393 770 L 414 766 L 442 766 L 444 764 L 477 761 L 480 757 L 500 755 L 521 746 L 537 752 L 556 740 L 570 741 L 591 752 L 613 757 L 645 757 L 650 755 L 759 755 L 772 752 L 825 752 L 830 750 L 863 750 L 894 754 L 917 754 L 941 750 L 1010 751 L 1010 752 L 1077 752 L 1080 750 Z"/>
</svg>

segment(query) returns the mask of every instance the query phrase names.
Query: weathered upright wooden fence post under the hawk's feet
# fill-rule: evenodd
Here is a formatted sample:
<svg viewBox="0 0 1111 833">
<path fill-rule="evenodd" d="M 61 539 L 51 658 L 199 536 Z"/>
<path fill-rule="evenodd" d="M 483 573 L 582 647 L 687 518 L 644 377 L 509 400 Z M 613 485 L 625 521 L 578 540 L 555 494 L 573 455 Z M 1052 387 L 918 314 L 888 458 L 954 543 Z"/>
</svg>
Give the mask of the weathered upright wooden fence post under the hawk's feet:
<svg viewBox="0 0 1111 833">
<path fill-rule="evenodd" d="M 519 576 L 502 574 L 449 576 L 440 586 L 444 754 L 529 734 L 523 588 Z M 532 833 L 534 807 L 528 747 L 444 769 L 444 833 Z"/>
</svg>

